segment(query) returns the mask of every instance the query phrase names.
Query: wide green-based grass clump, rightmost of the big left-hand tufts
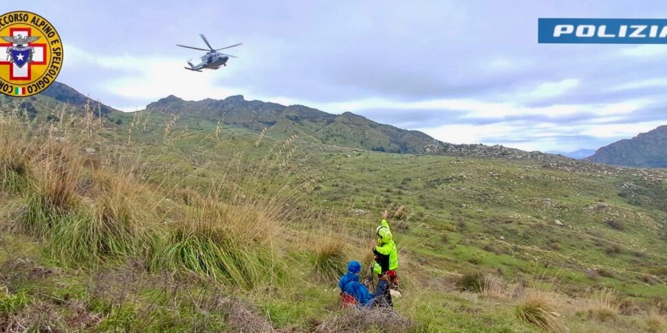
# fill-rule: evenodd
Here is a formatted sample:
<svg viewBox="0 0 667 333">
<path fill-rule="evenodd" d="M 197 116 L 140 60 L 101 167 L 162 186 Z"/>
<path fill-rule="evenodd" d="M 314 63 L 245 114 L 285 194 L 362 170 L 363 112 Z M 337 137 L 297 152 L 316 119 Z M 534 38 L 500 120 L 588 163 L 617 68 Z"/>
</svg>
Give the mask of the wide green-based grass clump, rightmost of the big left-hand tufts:
<svg viewBox="0 0 667 333">
<path fill-rule="evenodd" d="M 276 250 L 281 227 L 274 209 L 248 199 L 224 204 L 217 194 L 188 206 L 151 258 L 153 269 L 185 271 L 219 282 L 254 288 L 283 276 Z"/>
</svg>

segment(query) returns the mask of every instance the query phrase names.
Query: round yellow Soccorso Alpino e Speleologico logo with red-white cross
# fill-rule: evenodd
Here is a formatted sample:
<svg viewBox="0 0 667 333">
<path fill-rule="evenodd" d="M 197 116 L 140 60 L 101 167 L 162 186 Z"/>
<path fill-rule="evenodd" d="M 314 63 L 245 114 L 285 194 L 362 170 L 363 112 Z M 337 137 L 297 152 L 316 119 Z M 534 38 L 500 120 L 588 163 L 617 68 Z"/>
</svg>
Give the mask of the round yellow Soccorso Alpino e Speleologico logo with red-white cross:
<svg viewBox="0 0 667 333">
<path fill-rule="evenodd" d="M 31 12 L 0 16 L 0 93 L 35 95 L 52 84 L 63 65 L 63 42 L 56 29 Z"/>
</svg>

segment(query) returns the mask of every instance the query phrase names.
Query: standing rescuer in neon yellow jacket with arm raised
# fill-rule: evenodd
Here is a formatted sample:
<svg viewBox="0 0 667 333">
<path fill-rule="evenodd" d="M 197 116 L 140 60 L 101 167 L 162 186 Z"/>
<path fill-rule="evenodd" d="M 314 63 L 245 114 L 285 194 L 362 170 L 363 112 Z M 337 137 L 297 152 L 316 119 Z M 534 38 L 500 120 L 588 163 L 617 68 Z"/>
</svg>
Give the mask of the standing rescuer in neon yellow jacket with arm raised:
<svg viewBox="0 0 667 333">
<path fill-rule="evenodd" d="M 371 249 L 375 254 L 373 273 L 380 277 L 380 282 L 378 282 L 373 294 L 385 295 L 384 304 L 378 304 L 380 306 L 393 305 L 389 288 L 396 282 L 396 269 L 398 268 L 398 250 L 391 235 L 389 223 L 386 222 L 388 217 L 389 213 L 384 211 L 382 213 L 382 224 L 375 228 L 375 236 L 378 236 L 378 239 L 371 244 Z"/>
</svg>

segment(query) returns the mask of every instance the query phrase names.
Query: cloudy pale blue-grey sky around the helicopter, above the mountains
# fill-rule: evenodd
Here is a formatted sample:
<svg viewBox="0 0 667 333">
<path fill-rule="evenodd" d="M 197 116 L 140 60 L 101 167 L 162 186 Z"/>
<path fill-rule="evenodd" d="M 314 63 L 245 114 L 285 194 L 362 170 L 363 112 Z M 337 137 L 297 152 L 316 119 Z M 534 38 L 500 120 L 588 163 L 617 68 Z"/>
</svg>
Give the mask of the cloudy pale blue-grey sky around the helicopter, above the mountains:
<svg viewBox="0 0 667 333">
<path fill-rule="evenodd" d="M 667 45 L 546 45 L 539 17 L 667 19 L 664 1 L 17 1 L 58 78 L 124 111 L 166 95 L 351 111 L 452 143 L 599 148 L 667 124 Z M 228 67 L 183 69 L 202 47 Z"/>
</svg>

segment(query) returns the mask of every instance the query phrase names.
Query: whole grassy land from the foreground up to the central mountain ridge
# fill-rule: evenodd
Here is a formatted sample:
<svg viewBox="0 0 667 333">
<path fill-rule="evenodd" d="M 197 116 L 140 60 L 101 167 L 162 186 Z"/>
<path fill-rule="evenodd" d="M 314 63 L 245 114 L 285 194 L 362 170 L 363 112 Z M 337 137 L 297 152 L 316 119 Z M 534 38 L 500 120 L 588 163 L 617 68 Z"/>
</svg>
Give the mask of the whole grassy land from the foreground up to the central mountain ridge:
<svg viewBox="0 0 667 333">
<path fill-rule="evenodd" d="M 101 118 L 7 101 L 4 330 L 667 329 L 663 170 L 499 147 L 373 152 L 420 133 L 240 97 Z M 404 297 L 395 312 L 340 310 L 337 278 L 369 260 L 384 210 Z"/>
</svg>

